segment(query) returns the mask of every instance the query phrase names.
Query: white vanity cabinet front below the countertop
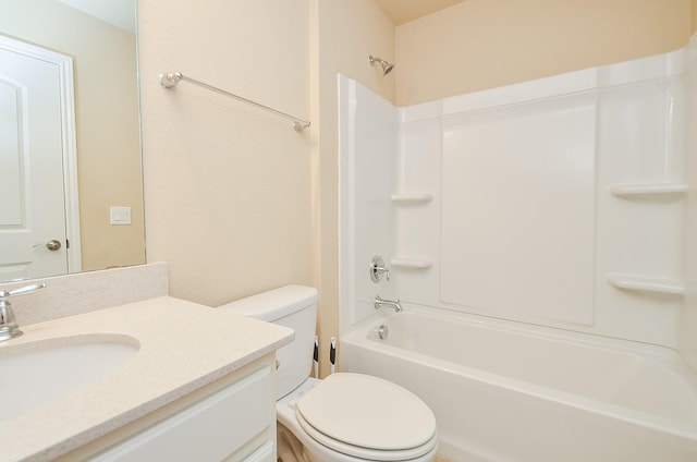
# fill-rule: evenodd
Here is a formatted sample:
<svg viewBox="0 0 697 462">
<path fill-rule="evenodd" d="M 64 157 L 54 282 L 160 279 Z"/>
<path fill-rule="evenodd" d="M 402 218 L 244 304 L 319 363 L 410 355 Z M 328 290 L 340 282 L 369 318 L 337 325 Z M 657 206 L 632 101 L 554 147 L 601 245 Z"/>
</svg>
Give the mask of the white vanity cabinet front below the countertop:
<svg viewBox="0 0 697 462">
<path fill-rule="evenodd" d="M 274 364 L 257 360 L 61 460 L 274 462 Z"/>
</svg>

